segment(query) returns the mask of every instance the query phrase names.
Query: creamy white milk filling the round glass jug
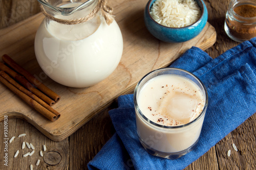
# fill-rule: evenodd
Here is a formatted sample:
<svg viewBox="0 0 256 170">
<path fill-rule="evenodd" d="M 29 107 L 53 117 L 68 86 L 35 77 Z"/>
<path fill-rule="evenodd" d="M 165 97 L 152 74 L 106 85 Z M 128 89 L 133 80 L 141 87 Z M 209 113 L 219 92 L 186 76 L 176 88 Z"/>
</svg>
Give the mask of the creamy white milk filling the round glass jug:
<svg viewBox="0 0 256 170">
<path fill-rule="evenodd" d="M 65 86 L 88 87 L 112 74 L 122 56 L 121 31 L 115 20 L 110 26 L 100 18 L 94 22 L 101 23 L 98 27 L 90 22 L 60 25 L 50 21 L 48 28 L 41 23 L 35 55 L 47 76 Z"/>
</svg>

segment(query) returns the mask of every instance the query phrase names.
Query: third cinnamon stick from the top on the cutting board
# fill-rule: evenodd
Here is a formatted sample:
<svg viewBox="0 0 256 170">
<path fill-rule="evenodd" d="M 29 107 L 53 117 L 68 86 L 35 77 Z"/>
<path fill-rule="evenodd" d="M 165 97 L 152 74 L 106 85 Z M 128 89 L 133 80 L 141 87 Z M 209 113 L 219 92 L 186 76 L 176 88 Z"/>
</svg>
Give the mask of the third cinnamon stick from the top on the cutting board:
<svg viewBox="0 0 256 170">
<path fill-rule="evenodd" d="M 50 107 L 47 103 L 45 103 L 44 101 L 42 101 L 40 98 L 38 98 L 36 95 L 34 95 L 32 92 L 30 92 L 29 90 L 27 90 L 26 88 L 24 88 L 23 86 L 21 86 L 20 84 L 18 84 L 15 80 L 13 80 L 10 76 L 8 76 L 4 71 L 0 71 L 0 75 L 7 80 L 9 83 L 11 83 L 12 85 L 14 85 L 17 89 L 19 89 L 20 91 L 24 92 L 25 94 L 27 94 L 28 96 L 30 96 L 30 98 L 32 98 L 33 100 L 35 100 L 37 103 L 39 103 L 40 105 L 42 105 L 43 107 L 45 107 L 47 110 L 51 111 L 53 114 L 55 114 L 57 117 L 56 119 L 60 116 L 59 112 L 57 112 L 56 110 L 54 110 L 52 107 Z"/>
</svg>

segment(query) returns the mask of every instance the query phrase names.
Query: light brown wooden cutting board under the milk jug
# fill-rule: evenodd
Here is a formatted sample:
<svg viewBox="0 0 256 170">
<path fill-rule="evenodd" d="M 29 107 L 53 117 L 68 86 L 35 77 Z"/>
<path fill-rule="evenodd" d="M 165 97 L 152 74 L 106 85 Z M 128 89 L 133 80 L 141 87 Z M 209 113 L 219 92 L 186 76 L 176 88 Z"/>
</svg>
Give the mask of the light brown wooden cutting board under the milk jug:
<svg viewBox="0 0 256 170">
<path fill-rule="evenodd" d="M 200 35 L 190 41 L 159 41 L 145 28 L 143 11 L 146 3 L 147 0 L 111 1 L 123 36 L 122 59 L 111 76 L 88 88 L 62 86 L 46 77 L 40 69 L 34 54 L 34 38 L 44 18 L 42 14 L 0 30 L 0 56 L 8 54 L 61 96 L 61 100 L 52 106 L 61 116 L 56 122 L 50 122 L 0 83 L 0 121 L 4 115 L 22 118 L 50 139 L 61 141 L 108 107 L 119 95 L 132 92 L 147 72 L 168 66 L 191 46 L 206 50 L 215 43 L 216 31 L 208 22 Z"/>
</svg>

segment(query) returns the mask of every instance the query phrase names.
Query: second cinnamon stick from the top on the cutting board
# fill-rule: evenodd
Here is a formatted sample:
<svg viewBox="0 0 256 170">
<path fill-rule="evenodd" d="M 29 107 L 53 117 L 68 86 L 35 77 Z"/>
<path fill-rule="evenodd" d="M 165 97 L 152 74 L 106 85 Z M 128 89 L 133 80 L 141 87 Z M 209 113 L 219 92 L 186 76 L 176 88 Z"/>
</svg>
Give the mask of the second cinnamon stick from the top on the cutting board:
<svg viewBox="0 0 256 170">
<path fill-rule="evenodd" d="M 24 87 L 26 87 L 29 91 L 34 93 L 38 96 L 38 98 L 45 101 L 48 105 L 52 106 L 55 104 L 55 101 L 50 99 L 47 95 L 42 93 L 41 91 L 37 90 L 31 83 L 28 82 L 27 79 L 25 79 L 23 76 L 20 76 L 17 74 L 17 72 L 13 71 L 11 68 L 7 67 L 5 64 L 0 62 L 0 70 L 3 70 L 7 72 L 11 77 L 13 77 L 15 80 L 17 80 L 20 84 L 22 84 Z"/>
</svg>

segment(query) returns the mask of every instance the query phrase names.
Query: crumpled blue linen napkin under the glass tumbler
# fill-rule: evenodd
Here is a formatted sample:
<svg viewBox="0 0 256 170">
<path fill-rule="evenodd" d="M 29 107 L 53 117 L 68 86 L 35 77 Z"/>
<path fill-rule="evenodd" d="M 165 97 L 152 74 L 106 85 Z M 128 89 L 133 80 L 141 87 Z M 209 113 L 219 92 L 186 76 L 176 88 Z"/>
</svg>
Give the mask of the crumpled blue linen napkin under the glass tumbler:
<svg viewBox="0 0 256 170">
<path fill-rule="evenodd" d="M 183 169 L 256 112 L 256 38 L 212 59 L 191 47 L 170 67 L 193 72 L 204 83 L 209 105 L 196 148 L 176 160 L 148 154 L 136 132 L 133 94 L 119 96 L 109 112 L 116 133 L 88 163 L 89 169 Z"/>
</svg>

